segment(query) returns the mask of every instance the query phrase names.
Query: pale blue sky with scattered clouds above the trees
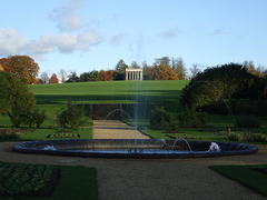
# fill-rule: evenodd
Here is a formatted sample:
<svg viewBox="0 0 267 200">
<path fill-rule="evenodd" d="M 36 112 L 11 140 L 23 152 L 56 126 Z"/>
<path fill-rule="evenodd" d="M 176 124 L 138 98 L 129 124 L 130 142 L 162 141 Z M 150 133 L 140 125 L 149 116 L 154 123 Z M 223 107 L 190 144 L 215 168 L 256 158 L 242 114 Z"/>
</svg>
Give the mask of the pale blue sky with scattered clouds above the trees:
<svg viewBox="0 0 267 200">
<path fill-rule="evenodd" d="M 267 69 L 267 0 L 8 0 L 0 58 L 30 56 L 40 73 L 78 74 L 181 58 L 190 73 L 228 62 Z"/>
</svg>

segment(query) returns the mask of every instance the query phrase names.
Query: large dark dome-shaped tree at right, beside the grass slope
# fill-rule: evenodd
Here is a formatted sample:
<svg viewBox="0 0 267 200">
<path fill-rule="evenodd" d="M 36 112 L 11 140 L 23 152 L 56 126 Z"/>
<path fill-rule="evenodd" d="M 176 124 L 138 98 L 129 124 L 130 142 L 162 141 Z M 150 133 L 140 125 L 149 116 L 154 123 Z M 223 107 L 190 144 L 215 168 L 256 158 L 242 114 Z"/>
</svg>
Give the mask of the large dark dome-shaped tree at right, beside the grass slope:
<svg viewBox="0 0 267 200">
<path fill-rule="evenodd" d="M 227 63 L 207 68 L 182 89 L 180 101 L 188 108 L 204 108 L 224 103 L 227 99 L 264 97 L 266 82 L 247 72 L 243 64 Z"/>
</svg>

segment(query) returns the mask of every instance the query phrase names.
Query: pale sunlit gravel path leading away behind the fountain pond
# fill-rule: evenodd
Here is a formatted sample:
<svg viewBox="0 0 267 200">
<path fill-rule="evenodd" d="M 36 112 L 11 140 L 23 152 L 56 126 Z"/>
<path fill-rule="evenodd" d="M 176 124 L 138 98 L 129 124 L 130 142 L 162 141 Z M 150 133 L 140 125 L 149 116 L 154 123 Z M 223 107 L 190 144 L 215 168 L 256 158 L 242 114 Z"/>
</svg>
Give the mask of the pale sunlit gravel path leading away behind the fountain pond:
<svg viewBox="0 0 267 200">
<path fill-rule="evenodd" d="M 93 139 L 149 139 L 119 120 L 93 120 Z"/>
</svg>

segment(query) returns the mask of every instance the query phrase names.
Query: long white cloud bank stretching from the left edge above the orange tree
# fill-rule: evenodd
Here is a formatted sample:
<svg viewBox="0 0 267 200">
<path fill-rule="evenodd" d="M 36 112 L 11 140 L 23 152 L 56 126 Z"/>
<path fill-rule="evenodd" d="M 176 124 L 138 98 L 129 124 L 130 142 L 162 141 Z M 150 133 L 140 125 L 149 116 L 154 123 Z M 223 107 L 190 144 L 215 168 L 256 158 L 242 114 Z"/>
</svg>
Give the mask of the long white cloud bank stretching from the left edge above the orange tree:
<svg viewBox="0 0 267 200">
<path fill-rule="evenodd" d="M 38 40 L 29 40 L 19 36 L 13 29 L 0 29 L 0 56 L 29 54 L 41 58 L 59 50 L 61 53 L 88 51 L 91 46 L 103 41 L 98 30 L 85 31 L 78 36 L 62 33 L 58 36 L 42 34 Z"/>
</svg>

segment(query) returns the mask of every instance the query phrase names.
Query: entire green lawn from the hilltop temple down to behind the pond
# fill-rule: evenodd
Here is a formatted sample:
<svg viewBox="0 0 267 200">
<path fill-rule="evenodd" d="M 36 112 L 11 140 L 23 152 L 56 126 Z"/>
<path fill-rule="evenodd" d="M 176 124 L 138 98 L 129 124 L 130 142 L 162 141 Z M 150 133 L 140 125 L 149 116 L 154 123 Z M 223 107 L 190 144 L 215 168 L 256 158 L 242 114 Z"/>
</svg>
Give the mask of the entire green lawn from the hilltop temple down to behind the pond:
<svg viewBox="0 0 267 200">
<path fill-rule="evenodd" d="M 71 99 L 77 103 L 85 104 L 87 116 L 90 112 L 89 103 L 121 103 L 125 111 L 125 121 L 130 126 L 137 126 L 144 133 L 152 138 L 170 139 L 166 130 L 155 131 L 150 129 L 149 113 L 155 106 L 166 107 L 175 114 L 182 110 L 179 97 L 182 88 L 189 81 L 99 81 L 63 84 L 31 84 L 30 90 L 37 98 L 37 106 L 46 110 L 46 120 L 41 129 L 33 132 L 22 132 L 21 140 L 47 139 L 49 134 L 57 132 L 56 118 L 66 107 L 67 100 Z M 127 119 L 128 118 L 128 119 Z M 238 116 L 235 116 L 238 118 Z M 267 132 L 267 117 L 254 116 L 261 124 L 260 129 L 249 129 L 251 132 Z M 178 121 L 176 121 L 178 124 Z M 0 116 L 0 129 L 11 128 L 8 116 Z M 83 129 L 75 130 L 81 138 L 92 137 L 92 120 L 85 124 Z M 208 127 L 210 129 L 179 128 L 177 131 L 182 134 L 174 137 L 196 138 L 198 140 L 226 140 L 218 136 L 228 128 L 234 128 L 233 118 L 228 116 L 209 114 Z M 216 131 L 214 129 L 220 129 Z"/>
</svg>

